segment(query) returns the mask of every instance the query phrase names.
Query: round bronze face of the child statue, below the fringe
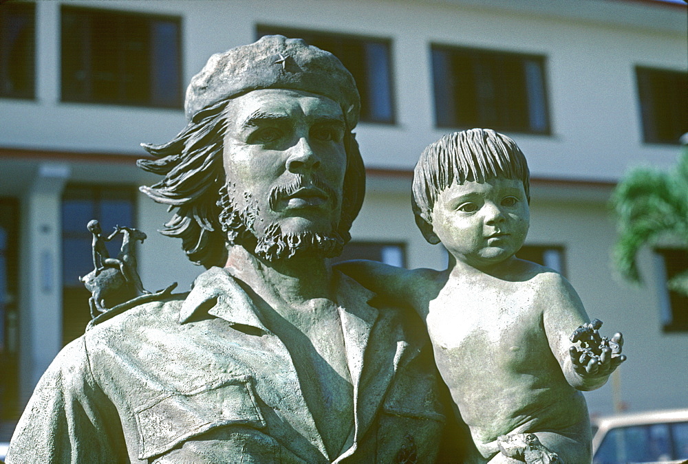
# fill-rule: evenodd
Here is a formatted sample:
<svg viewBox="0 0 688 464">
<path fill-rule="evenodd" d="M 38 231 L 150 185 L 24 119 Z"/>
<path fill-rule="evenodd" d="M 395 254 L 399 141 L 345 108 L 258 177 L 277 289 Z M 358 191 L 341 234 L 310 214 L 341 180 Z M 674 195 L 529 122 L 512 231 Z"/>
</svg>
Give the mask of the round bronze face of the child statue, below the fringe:
<svg viewBox="0 0 688 464">
<path fill-rule="evenodd" d="M 530 209 L 522 181 L 465 181 L 444 189 L 432 211 L 433 232 L 458 261 L 477 269 L 501 263 L 526 240 Z"/>
</svg>

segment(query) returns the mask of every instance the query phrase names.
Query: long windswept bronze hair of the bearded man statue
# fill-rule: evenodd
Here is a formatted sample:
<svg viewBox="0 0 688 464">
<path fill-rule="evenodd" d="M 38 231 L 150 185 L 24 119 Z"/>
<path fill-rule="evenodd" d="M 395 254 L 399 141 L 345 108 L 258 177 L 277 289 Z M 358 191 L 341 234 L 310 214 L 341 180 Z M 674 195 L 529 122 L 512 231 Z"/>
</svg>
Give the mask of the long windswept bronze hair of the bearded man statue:
<svg viewBox="0 0 688 464">
<path fill-rule="evenodd" d="M 169 206 L 172 219 L 160 232 L 182 239 L 182 248 L 190 261 L 204 267 L 224 265 L 226 244 L 234 244 L 237 234 L 222 230 L 220 201 L 226 191 L 222 159 L 228 100 L 197 113 L 173 140 L 166 144 L 141 144 L 158 159 L 139 159 L 143 170 L 163 175 L 153 186 L 140 190 L 158 203 Z M 344 243 L 351 239 L 349 230 L 363 204 L 365 168 L 356 136 L 347 128 L 344 136 L 347 167 L 344 175 L 341 220 L 337 232 Z M 226 201 L 224 201 L 226 203 Z"/>
</svg>

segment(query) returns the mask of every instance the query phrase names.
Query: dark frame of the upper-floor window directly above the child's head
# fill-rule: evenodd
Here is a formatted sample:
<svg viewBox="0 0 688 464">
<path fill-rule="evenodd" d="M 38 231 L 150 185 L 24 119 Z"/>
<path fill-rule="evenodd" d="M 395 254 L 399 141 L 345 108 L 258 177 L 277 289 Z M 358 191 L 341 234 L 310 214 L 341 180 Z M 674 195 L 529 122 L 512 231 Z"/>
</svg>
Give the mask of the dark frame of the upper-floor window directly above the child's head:
<svg viewBox="0 0 688 464">
<path fill-rule="evenodd" d="M 517 126 L 508 126 L 502 124 L 500 122 L 499 124 L 494 124 L 490 123 L 487 121 L 481 121 L 481 120 L 475 120 L 473 122 L 466 122 L 465 124 L 460 122 L 458 118 L 454 117 L 453 122 L 447 122 L 444 123 L 440 121 L 440 113 L 439 113 L 439 105 L 438 102 L 440 100 L 444 100 L 441 95 L 439 95 L 440 92 L 438 92 L 438 89 L 440 87 L 440 81 L 438 80 L 437 74 L 436 74 L 436 63 L 435 63 L 435 52 L 446 52 L 449 54 L 449 60 L 456 60 L 458 54 L 463 54 L 464 56 L 470 58 L 474 62 L 477 60 L 480 60 L 480 58 L 484 57 L 489 57 L 491 59 L 496 59 L 496 58 L 506 58 L 506 59 L 514 59 L 518 58 L 519 63 L 522 67 L 522 69 L 525 69 L 524 63 L 526 63 L 527 60 L 535 61 L 538 64 L 538 69 L 539 69 L 539 80 L 541 83 L 541 111 L 543 113 L 543 120 L 544 120 L 544 129 L 539 130 L 539 129 L 533 129 L 533 125 L 530 124 L 530 111 L 528 111 L 528 105 L 530 104 L 530 100 L 528 98 L 528 82 L 525 77 L 525 70 L 524 70 L 524 87 L 522 89 L 522 93 L 524 96 L 524 102 L 525 102 L 525 107 L 526 107 L 526 113 L 524 114 L 524 120 L 528 121 L 526 126 L 524 127 L 517 127 Z M 522 133 L 522 134 L 527 134 L 527 135 L 544 135 L 544 136 L 550 136 L 552 135 L 552 111 L 550 108 L 550 91 L 549 91 L 549 85 L 548 85 L 548 73 L 547 73 L 547 56 L 544 54 L 537 54 L 537 53 L 528 53 L 528 52 L 516 52 L 513 50 L 505 50 L 505 49 L 490 49 L 490 48 L 484 48 L 484 47 L 473 47 L 469 45 L 455 45 L 455 44 L 447 44 L 447 43 L 437 43 L 433 42 L 430 43 L 430 67 L 431 67 L 431 83 L 433 86 L 433 104 L 434 104 L 434 118 L 435 118 L 435 126 L 437 129 L 471 129 L 473 127 L 491 127 L 491 129 L 495 129 L 496 131 L 502 131 L 502 132 L 509 132 L 509 133 Z M 450 65 L 453 67 L 453 65 Z M 451 72 L 451 71 L 450 71 Z M 451 92 L 449 90 L 449 85 L 450 82 L 445 82 L 445 89 L 443 93 L 449 93 Z M 509 86 L 506 84 L 500 84 L 501 88 L 506 89 Z M 477 92 L 476 92 L 477 93 Z M 458 102 L 456 99 L 453 100 L 454 106 L 458 105 Z M 478 107 L 478 102 L 475 104 L 476 109 L 480 109 Z"/>
</svg>

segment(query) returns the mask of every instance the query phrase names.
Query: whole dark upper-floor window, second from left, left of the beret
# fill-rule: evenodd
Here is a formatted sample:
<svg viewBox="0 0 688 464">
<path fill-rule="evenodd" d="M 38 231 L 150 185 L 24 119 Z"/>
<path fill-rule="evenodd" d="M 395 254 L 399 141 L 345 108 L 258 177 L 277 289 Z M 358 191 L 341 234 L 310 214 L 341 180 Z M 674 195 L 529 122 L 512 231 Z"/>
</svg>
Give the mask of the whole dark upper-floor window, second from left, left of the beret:
<svg viewBox="0 0 688 464">
<path fill-rule="evenodd" d="M 62 100 L 181 108 L 180 19 L 62 7 Z"/>
</svg>

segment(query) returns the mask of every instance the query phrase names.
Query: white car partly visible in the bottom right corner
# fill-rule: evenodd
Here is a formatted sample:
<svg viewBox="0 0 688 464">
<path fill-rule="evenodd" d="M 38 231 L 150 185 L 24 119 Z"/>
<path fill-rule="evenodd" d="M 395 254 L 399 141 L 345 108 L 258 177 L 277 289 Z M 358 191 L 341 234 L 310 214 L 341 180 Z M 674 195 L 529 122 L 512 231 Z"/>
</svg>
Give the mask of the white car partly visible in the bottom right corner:
<svg viewBox="0 0 688 464">
<path fill-rule="evenodd" d="M 688 409 L 604 417 L 593 423 L 594 464 L 688 463 Z"/>
</svg>

